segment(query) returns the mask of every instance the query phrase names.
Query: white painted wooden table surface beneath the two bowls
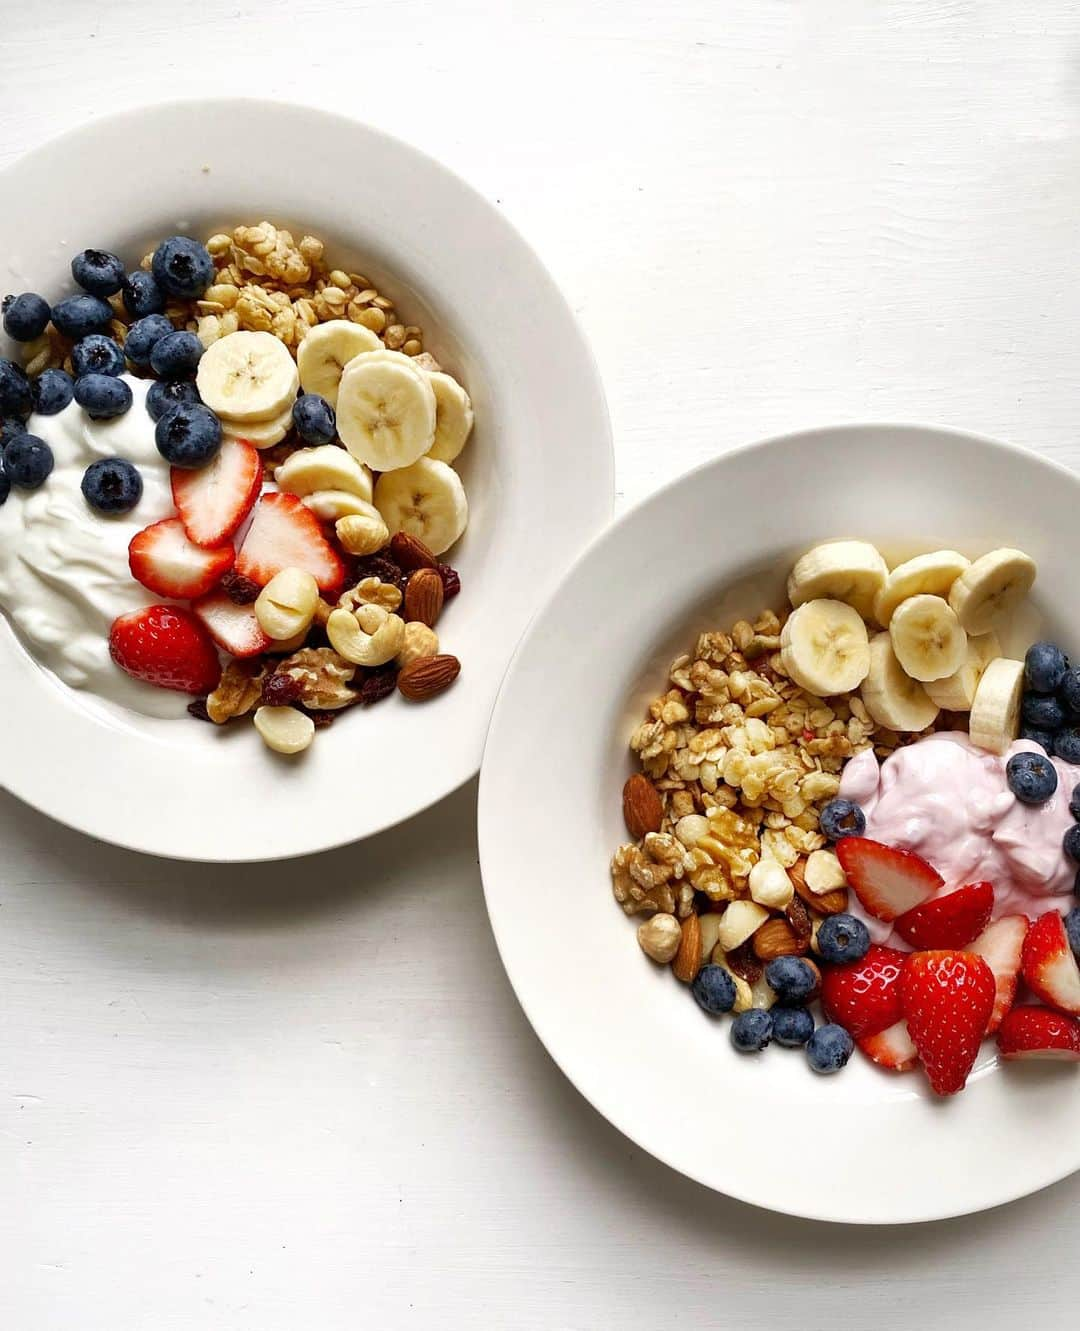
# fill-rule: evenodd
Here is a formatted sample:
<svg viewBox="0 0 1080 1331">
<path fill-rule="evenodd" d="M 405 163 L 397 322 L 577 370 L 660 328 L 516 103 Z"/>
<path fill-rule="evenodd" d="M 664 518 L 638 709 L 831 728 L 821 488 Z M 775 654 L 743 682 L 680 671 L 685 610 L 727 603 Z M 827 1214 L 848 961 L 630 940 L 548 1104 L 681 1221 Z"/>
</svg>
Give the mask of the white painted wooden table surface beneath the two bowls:
<svg viewBox="0 0 1080 1331">
<path fill-rule="evenodd" d="M 119 106 L 246 92 L 469 177 L 593 339 L 621 507 L 840 419 L 1080 465 L 1068 0 L 65 0 L 0 7 L 0 162 Z M 1080 1179 L 840 1230 L 714 1197 L 609 1129 L 502 974 L 474 801 L 216 870 L 0 800 L 0 1324 L 1072 1320 Z M 759 1149 L 827 1181 L 812 1125 Z"/>
</svg>

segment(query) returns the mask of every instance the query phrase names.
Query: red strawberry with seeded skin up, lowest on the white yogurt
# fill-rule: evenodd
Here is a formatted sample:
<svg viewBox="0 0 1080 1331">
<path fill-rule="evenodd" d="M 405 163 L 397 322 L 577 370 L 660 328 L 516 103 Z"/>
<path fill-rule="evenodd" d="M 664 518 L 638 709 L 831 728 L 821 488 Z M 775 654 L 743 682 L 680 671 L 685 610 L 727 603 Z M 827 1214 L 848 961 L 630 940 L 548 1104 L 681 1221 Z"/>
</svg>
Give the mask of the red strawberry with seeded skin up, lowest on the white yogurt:
<svg viewBox="0 0 1080 1331">
<path fill-rule="evenodd" d="M 146 606 L 115 619 L 109 654 L 133 679 L 177 693 L 209 693 L 221 677 L 205 628 L 178 606 Z"/>
</svg>

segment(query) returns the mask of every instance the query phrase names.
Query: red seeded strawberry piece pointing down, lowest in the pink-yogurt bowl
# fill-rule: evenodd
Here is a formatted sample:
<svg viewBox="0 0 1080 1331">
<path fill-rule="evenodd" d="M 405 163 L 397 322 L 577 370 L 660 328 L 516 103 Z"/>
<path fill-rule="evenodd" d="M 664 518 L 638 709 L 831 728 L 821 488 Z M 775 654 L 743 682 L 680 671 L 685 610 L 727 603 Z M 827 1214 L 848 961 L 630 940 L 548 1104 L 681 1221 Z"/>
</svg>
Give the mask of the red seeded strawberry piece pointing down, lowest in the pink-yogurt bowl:
<svg viewBox="0 0 1080 1331">
<path fill-rule="evenodd" d="M 900 977 L 907 1029 L 931 1087 L 963 1090 L 993 1010 L 993 972 L 972 952 L 915 952 Z"/>
</svg>

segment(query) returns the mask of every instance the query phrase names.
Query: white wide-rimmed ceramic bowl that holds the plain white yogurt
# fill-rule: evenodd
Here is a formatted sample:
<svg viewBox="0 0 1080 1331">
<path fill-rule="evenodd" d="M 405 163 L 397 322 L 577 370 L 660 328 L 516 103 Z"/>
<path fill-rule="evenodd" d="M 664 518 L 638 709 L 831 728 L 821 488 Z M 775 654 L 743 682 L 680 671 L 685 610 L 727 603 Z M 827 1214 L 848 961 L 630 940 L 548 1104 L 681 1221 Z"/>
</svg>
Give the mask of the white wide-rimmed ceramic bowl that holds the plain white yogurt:
<svg viewBox="0 0 1080 1331">
<path fill-rule="evenodd" d="M 222 132 L 224 130 L 224 132 Z M 105 182 L 103 186 L 103 181 Z M 610 516 L 607 413 L 551 278 L 479 194 L 378 130 L 265 101 L 198 101 L 97 121 L 3 176 L 0 289 L 72 289 L 97 245 L 132 266 L 173 232 L 269 218 L 372 274 L 469 387 L 463 591 L 439 631 L 457 684 L 349 713 L 298 761 L 249 725 L 121 712 L 43 671 L 0 628 L 0 780 L 72 827 L 198 860 L 302 855 L 378 832 L 470 777 L 510 652 L 542 592 Z M 573 474 L 573 484 L 567 476 Z"/>
</svg>

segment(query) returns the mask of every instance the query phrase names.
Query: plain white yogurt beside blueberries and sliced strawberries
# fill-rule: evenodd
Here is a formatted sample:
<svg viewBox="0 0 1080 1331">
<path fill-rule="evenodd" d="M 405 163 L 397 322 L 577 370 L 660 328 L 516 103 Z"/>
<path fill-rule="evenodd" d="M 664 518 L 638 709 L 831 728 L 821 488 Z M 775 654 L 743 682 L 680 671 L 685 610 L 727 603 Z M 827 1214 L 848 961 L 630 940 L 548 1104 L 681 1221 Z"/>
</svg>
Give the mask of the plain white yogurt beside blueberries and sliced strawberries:
<svg viewBox="0 0 1080 1331">
<path fill-rule="evenodd" d="M 115 421 L 91 421 L 75 402 L 27 430 L 52 449 L 56 466 L 40 490 L 12 488 L 0 506 L 0 607 L 41 664 L 72 688 L 146 716 L 181 716 L 185 693 L 125 675 L 109 656 L 117 615 L 160 602 L 132 578 L 128 544 L 142 527 L 173 516 L 169 465 L 157 451 L 146 413 L 152 381 L 124 375 L 135 401 Z M 80 488 L 97 458 L 127 458 L 142 476 L 131 512 L 108 518 Z"/>
</svg>

